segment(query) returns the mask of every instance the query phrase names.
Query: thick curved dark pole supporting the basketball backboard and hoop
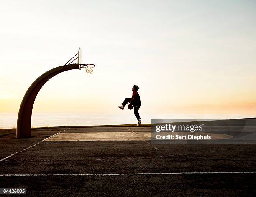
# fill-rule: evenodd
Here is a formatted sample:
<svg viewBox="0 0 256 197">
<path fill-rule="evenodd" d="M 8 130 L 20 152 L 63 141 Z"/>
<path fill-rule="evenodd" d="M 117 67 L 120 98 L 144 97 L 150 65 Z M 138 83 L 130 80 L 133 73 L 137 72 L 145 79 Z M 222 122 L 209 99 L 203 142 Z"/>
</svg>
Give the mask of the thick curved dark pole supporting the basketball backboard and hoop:
<svg viewBox="0 0 256 197">
<path fill-rule="evenodd" d="M 79 69 L 78 64 L 69 64 L 66 66 L 59 66 L 53 68 L 46 73 L 42 74 L 40 77 L 34 81 L 28 88 L 23 100 L 20 104 L 20 110 L 17 120 L 17 130 L 16 138 L 28 138 L 31 137 L 31 116 L 32 109 L 36 99 L 36 96 L 44 84 L 55 75 L 62 73 L 64 71 L 69 71 L 72 69 Z"/>
</svg>

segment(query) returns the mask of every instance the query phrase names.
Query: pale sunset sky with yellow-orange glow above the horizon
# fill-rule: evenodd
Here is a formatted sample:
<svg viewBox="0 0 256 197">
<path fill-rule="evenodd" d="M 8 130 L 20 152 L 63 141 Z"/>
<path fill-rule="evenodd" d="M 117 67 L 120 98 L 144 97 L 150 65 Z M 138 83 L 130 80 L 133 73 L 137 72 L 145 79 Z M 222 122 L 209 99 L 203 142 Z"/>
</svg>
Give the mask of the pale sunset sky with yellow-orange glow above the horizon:
<svg viewBox="0 0 256 197">
<path fill-rule="evenodd" d="M 0 113 L 82 48 L 89 76 L 51 78 L 33 112 L 122 113 L 139 86 L 143 113 L 256 116 L 254 0 L 0 0 Z"/>
</svg>

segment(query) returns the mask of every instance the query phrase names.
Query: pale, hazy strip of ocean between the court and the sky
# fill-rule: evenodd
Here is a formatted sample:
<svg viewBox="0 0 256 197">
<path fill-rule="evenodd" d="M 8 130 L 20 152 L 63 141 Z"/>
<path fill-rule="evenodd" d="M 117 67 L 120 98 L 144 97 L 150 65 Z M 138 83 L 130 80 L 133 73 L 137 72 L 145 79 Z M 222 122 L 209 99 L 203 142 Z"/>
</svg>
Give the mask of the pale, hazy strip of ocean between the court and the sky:
<svg viewBox="0 0 256 197">
<path fill-rule="evenodd" d="M 151 123 L 151 119 L 237 119 L 256 117 L 252 115 L 216 115 L 216 114 L 140 114 L 142 123 Z M 16 128 L 18 114 L 0 113 L 0 129 Z M 71 113 L 33 113 L 32 127 L 46 126 L 90 126 L 109 124 L 137 124 L 131 114 L 71 114 Z"/>
</svg>

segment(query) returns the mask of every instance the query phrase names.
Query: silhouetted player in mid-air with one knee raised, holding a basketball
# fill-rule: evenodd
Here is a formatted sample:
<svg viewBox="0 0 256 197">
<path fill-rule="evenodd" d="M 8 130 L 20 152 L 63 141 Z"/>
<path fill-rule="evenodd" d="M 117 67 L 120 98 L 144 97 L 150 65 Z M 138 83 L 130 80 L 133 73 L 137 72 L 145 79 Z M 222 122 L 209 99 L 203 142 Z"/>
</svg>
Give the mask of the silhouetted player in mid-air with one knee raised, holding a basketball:
<svg viewBox="0 0 256 197">
<path fill-rule="evenodd" d="M 125 100 L 123 101 L 122 103 L 122 106 L 118 106 L 120 109 L 124 109 L 125 105 L 129 103 L 128 105 L 128 109 L 133 109 L 134 107 L 134 115 L 136 116 L 137 120 L 138 120 L 138 124 L 137 126 L 140 126 L 141 125 L 141 117 L 139 116 L 139 113 L 138 113 L 138 110 L 140 109 L 141 107 L 141 98 L 140 98 L 140 95 L 138 94 L 138 86 L 137 85 L 134 85 L 133 86 L 133 95 L 131 98 L 125 98 Z"/>
</svg>

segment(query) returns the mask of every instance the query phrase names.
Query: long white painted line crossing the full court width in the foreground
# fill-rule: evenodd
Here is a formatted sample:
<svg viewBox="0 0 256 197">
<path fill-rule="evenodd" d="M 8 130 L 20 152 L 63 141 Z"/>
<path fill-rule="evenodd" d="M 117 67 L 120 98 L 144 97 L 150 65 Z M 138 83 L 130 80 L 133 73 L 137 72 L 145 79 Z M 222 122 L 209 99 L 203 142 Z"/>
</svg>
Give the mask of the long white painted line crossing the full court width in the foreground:
<svg viewBox="0 0 256 197">
<path fill-rule="evenodd" d="M 129 175 L 172 175 L 172 174 L 255 174 L 256 172 L 170 172 L 170 173 L 120 173 L 120 174 L 0 174 L 0 177 L 40 177 L 40 176 L 129 176 Z"/>
</svg>

